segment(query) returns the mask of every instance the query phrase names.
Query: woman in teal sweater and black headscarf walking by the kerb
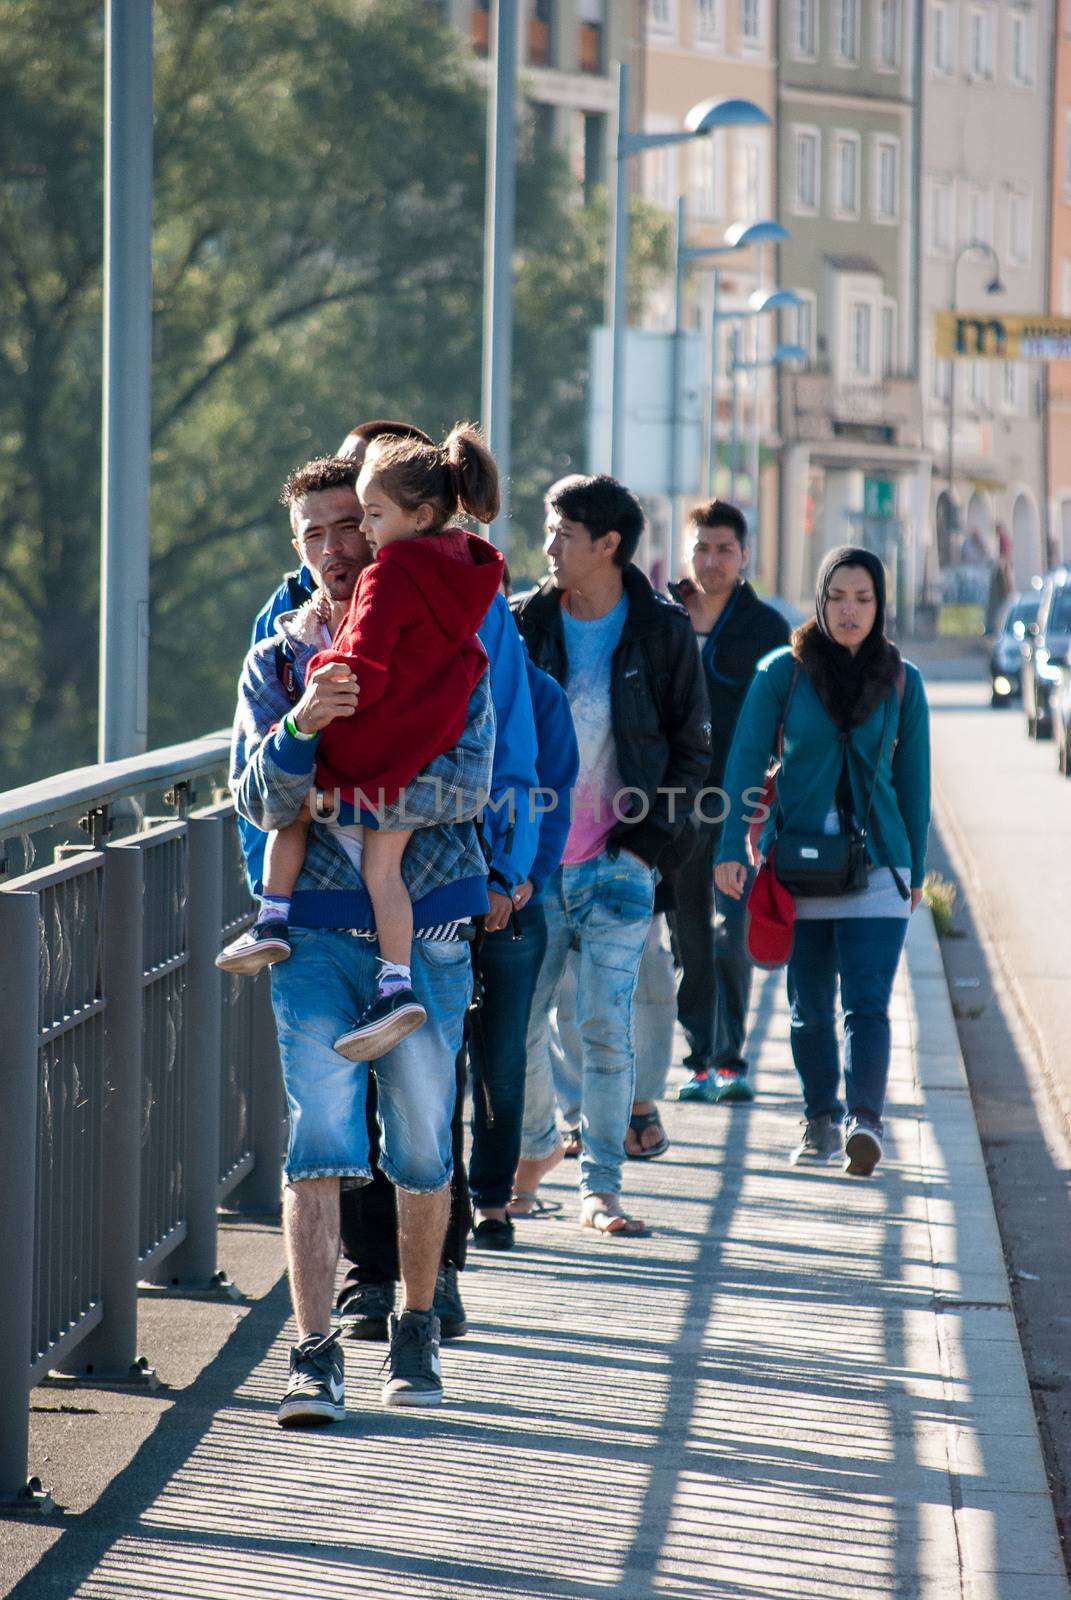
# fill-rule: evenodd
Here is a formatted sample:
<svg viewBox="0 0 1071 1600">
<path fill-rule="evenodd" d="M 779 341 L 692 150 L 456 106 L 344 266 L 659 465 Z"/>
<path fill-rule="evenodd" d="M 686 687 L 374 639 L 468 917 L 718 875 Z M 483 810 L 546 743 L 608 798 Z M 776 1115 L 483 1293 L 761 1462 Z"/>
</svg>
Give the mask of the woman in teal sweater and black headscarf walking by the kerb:
<svg viewBox="0 0 1071 1600">
<path fill-rule="evenodd" d="M 805 1130 L 792 1163 L 845 1158 L 869 1176 L 882 1155 L 888 1077 L 888 997 L 908 917 L 922 898 L 930 826 L 930 734 L 917 667 L 885 637 L 885 570 L 855 546 L 831 550 L 818 573 L 815 618 L 760 664 L 725 771 L 730 811 L 714 872 L 735 899 L 744 890 L 746 835 L 784 723 L 776 805 L 760 850 L 778 832 L 839 834 L 868 814 L 866 888 L 796 898 L 788 963 L 792 1059 Z M 872 798 L 871 798 L 872 797 Z M 836 981 L 844 1008 L 844 1094 Z"/>
</svg>

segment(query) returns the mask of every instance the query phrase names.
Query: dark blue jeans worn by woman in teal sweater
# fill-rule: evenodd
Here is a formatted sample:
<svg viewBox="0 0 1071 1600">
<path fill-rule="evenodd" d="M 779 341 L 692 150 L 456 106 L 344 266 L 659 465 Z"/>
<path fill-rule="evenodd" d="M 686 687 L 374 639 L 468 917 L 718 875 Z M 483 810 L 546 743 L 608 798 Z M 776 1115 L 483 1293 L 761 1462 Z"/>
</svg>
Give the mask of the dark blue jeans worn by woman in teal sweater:
<svg viewBox="0 0 1071 1600">
<path fill-rule="evenodd" d="M 844 1008 L 844 1094 L 848 1115 L 863 1112 L 880 1123 L 888 1078 L 888 997 L 906 917 L 844 917 L 797 922 L 788 963 L 792 1008 L 792 1061 L 804 1088 L 807 1117 L 840 1122 L 836 986 Z"/>
</svg>

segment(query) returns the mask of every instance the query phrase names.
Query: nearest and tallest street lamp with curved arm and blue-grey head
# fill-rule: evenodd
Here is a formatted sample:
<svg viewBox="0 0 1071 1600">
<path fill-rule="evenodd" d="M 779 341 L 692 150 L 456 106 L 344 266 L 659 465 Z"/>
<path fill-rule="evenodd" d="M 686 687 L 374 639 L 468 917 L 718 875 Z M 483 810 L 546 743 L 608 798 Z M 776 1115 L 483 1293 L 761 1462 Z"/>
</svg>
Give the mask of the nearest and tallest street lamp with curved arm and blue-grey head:
<svg viewBox="0 0 1071 1600">
<path fill-rule="evenodd" d="M 629 186 L 628 157 L 671 144 L 701 139 L 717 128 L 768 128 L 770 117 L 748 99 L 708 99 L 693 106 L 680 133 L 632 133 L 629 130 L 629 66 L 618 66 L 618 123 L 615 139 L 613 214 L 610 219 L 610 472 L 621 477 L 624 448 L 624 339 L 628 330 Z"/>
</svg>

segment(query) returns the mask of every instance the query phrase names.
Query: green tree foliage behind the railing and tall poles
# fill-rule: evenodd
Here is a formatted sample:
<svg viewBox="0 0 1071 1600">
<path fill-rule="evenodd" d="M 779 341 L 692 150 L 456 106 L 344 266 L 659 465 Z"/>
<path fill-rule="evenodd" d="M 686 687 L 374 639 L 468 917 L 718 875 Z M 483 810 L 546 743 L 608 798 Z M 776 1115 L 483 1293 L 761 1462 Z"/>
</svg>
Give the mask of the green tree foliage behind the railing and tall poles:
<svg viewBox="0 0 1071 1600">
<path fill-rule="evenodd" d="M 485 106 L 426 0 L 157 0 L 150 742 L 229 720 L 290 563 L 275 496 L 362 416 L 479 414 Z M 0 784 L 93 758 L 98 674 L 98 0 L 0 0 Z M 583 464 L 605 197 L 525 130 L 515 565 Z M 634 229 L 634 290 L 668 256 Z M 527 554 L 525 554 L 527 547 Z"/>
</svg>

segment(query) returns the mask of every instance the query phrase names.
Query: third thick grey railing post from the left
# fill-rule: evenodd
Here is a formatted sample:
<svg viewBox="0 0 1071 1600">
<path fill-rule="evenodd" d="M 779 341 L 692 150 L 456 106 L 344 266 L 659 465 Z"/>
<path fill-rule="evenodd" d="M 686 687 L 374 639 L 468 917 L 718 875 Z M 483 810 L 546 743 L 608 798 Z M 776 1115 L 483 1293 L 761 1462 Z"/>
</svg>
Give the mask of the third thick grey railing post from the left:
<svg viewBox="0 0 1071 1600">
<path fill-rule="evenodd" d="M 168 1256 L 160 1277 L 173 1283 L 207 1288 L 216 1272 L 219 1232 L 219 1078 L 221 974 L 215 963 L 223 926 L 223 822 L 191 818 L 189 939 L 186 1037 L 189 1059 L 189 1109 L 186 1115 L 186 1240 Z"/>
</svg>

